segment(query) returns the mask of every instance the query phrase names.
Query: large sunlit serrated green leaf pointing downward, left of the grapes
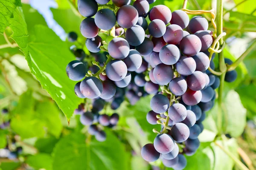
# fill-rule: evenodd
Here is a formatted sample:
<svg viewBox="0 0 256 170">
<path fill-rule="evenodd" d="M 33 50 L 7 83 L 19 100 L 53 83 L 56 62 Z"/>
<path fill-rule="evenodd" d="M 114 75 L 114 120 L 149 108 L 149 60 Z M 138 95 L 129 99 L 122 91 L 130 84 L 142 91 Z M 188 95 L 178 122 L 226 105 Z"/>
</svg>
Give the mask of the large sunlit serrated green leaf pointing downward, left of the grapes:
<svg viewBox="0 0 256 170">
<path fill-rule="evenodd" d="M 76 82 L 66 74 L 67 64 L 74 60 L 67 44 L 49 28 L 35 26 L 35 40 L 29 42 L 30 55 L 26 57 L 32 74 L 56 101 L 67 120 L 83 101 L 74 93 Z"/>
</svg>

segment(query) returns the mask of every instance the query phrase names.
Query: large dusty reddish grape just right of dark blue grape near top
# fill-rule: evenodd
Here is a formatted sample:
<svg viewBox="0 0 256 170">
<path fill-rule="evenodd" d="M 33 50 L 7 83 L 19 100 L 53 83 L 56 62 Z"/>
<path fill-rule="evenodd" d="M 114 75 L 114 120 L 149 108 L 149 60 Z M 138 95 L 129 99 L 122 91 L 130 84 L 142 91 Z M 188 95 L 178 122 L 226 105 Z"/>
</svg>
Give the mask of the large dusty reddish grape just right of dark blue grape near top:
<svg viewBox="0 0 256 170">
<path fill-rule="evenodd" d="M 136 8 L 130 5 L 125 5 L 119 8 L 116 13 L 116 20 L 119 26 L 123 28 L 131 28 L 138 22 L 138 12 Z"/>
</svg>

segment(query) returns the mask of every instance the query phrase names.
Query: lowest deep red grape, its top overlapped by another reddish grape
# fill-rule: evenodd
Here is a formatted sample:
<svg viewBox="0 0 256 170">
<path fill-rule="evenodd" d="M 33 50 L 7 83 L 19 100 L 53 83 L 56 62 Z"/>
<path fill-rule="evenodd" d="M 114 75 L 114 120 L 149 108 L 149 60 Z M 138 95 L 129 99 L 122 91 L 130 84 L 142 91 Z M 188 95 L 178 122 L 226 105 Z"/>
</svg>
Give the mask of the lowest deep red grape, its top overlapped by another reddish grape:
<svg viewBox="0 0 256 170">
<path fill-rule="evenodd" d="M 182 100 L 186 105 L 196 105 L 202 99 L 201 91 L 192 91 L 189 88 L 187 91 L 182 95 Z"/>
</svg>

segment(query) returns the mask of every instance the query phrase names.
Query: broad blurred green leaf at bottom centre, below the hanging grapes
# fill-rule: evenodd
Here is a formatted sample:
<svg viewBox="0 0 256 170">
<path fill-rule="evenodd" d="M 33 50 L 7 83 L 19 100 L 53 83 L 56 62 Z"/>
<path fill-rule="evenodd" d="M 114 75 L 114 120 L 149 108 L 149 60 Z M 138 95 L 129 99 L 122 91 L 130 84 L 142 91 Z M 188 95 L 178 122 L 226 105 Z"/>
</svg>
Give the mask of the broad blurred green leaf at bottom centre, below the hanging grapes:
<svg viewBox="0 0 256 170">
<path fill-rule="evenodd" d="M 61 139 L 53 152 L 53 170 L 128 170 L 128 153 L 120 140 L 107 131 L 107 140 L 90 144 L 81 133 Z"/>
</svg>

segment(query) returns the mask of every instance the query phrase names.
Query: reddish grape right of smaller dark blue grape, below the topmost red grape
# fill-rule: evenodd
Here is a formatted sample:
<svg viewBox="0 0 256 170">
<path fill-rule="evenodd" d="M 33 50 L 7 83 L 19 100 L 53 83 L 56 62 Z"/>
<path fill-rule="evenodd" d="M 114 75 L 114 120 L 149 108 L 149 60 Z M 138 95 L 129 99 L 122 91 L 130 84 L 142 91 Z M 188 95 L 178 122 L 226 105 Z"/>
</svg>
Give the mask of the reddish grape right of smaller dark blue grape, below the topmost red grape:
<svg viewBox="0 0 256 170">
<path fill-rule="evenodd" d="M 183 30 L 180 26 L 172 24 L 166 27 L 166 33 L 163 35 L 163 39 L 168 44 L 178 44 L 183 38 Z"/>
</svg>

